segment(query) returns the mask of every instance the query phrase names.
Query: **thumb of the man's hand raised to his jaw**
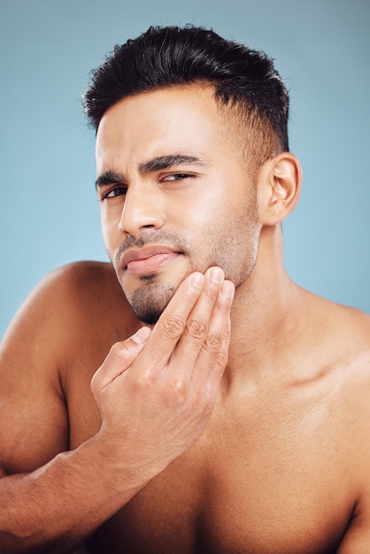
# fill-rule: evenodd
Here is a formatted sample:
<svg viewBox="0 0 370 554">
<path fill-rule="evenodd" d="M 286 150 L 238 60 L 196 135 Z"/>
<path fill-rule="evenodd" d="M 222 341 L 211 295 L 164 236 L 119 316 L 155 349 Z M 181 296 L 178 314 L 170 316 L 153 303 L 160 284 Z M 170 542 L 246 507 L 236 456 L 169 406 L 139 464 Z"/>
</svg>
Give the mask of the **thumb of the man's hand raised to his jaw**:
<svg viewBox="0 0 370 554">
<path fill-rule="evenodd" d="M 121 373 L 127 371 L 148 342 L 150 333 L 150 327 L 141 327 L 126 341 L 113 344 L 108 356 L 91 380 L 91 389 L 94 394 L 103 390 Z"/>
</svg>

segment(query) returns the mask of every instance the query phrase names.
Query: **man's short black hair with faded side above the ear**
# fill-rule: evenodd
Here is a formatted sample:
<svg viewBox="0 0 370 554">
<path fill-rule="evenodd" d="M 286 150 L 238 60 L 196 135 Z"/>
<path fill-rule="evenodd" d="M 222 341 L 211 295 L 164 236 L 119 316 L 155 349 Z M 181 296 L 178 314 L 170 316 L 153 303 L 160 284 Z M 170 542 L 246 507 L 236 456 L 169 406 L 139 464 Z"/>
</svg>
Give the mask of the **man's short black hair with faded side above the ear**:
<svg viewBox="0 0 370 554">
<path fill-rule="evenodd" d="M 116 45 L 91 73 L 82 103 L 97 130 L 104 112 L 122 98 L 193 83 L 212 86 L 220 104 L 234 106 L 238 119 L 262 131 L 265 157 L 267 150 L 289 150 L 289 95 L 273 59 L 202 27 L 150 27 Z"/>
</svg>

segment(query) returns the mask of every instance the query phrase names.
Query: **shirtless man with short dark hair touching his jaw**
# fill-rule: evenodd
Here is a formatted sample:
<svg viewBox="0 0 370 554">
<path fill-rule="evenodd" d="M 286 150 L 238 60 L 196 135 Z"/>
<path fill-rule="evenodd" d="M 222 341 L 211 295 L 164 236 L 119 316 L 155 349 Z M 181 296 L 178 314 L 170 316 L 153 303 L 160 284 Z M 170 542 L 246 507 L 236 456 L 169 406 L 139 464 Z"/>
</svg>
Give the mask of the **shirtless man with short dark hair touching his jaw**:
<svg viewBox="0 0 370 554">
<path fill-rule="evenodd" d="M 112 265 L 52 273 L 4 337 L 1 551 L 367 554 L 370 321 L 284 270 L 271 60 L 150 28 L 84 105 Z"/>
</svg>

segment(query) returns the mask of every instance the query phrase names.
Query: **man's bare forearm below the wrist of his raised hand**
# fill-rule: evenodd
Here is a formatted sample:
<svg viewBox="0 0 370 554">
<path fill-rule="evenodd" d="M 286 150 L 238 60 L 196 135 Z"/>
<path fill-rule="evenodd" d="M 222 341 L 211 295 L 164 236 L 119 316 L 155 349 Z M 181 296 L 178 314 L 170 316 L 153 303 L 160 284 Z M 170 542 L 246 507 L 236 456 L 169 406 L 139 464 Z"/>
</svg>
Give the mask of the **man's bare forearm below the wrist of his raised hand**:
<svg viewBox="0 0 370 554">
<path fill-rule="evenodd" d="M 137 483 L 114 466 L 97 437 L 33 473 L 0 480 L 2 554 L 73 551 L 135 496 Z"/>
</svg>

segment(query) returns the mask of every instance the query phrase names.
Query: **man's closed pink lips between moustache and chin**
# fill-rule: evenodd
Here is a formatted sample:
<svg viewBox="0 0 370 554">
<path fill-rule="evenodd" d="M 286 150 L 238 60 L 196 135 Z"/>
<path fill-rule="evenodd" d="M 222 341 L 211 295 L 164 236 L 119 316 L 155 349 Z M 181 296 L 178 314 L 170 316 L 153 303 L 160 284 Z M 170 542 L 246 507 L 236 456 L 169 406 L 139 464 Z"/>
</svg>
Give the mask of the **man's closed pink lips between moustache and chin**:
<svg viewBox="0 0 370 554">
<path fill-rule="evenodd" d="M 130 249 L 121 258 L 121 265 L 128 273 L 143 274 L 156 271 L 177 258 L 181 252 L 169 246 L 151 245 L 141 249 Z"/>
</svg>

